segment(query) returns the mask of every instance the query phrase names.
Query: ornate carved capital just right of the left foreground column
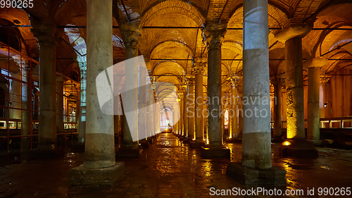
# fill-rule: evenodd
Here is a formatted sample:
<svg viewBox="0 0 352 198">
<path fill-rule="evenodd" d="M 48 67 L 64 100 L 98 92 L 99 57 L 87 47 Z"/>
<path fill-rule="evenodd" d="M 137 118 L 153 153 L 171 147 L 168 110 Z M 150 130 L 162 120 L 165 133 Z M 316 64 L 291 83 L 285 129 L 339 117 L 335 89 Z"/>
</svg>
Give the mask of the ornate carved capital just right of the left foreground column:
<svg viewBox="0 0 352 198">
<path fill-rule="evenodd" d="M 138 48 L 139 39 L 142 37 L 142 31 L 139 28 L 140 22 L 133 21 L 130 23 L 122 22 L 119 23 L 120 34 L 122 36 L 123 43 L 126 48 Z"/>
</svg>

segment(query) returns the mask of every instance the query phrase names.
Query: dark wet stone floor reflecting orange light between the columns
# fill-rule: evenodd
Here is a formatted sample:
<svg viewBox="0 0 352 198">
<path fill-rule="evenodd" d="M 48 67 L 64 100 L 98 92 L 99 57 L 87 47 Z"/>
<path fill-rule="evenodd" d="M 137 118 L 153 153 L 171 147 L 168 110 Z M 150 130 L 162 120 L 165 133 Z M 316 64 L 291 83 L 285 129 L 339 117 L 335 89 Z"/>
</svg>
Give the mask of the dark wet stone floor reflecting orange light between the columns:
<svg viewBox="0 0 352 198">
<path fill-rule="evenodd" d="M 226 175 L 230 161 L 241 161 L 241 144 L 225 146 L 231 149 L 231 159 L 201 159 L 199 149 L 189 149 L 170 133 L 161 134 L 139 159 L 116 159 L 125 161 L 124 177 L 112 187 L 99 189 L 68 189 L 68 171 L 83 163 L 82 153 L 68 151 L 63 158 L 29 161 L 23 156 L 1 156 L 0 197 L 213 197 L 210 194 L 215 192 L 210 190 L 250 190 Z M 318 159 L 279 158 L 279 144 L 272 144 L 272 165 L 287 171 L 287 185 L 276 189 L 303 190 L 303 195 L 257 192 L 256 196 L 232 197 L 352 197 L 318 194 L 319 187 L 352 187 L 352 151 L 318 151 Z M 313 187 L 314 195 L 308 196 L 308 188 Z"/>
</svg>

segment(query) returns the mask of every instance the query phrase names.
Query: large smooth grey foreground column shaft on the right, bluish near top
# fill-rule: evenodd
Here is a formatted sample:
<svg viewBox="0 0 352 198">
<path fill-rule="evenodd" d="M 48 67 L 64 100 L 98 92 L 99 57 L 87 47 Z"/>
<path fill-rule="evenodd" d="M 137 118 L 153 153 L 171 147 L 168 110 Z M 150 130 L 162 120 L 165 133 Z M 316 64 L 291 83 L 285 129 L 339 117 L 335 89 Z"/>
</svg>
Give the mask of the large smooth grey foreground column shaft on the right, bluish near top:
<svg viewBox="0 0 352 198">
<path fill-rule="evenodd" d="M 241 163 L 249 168 L 271 168 L 268 2 L 244 0 L 243 13 L 244 123 Z"/>
</svg>

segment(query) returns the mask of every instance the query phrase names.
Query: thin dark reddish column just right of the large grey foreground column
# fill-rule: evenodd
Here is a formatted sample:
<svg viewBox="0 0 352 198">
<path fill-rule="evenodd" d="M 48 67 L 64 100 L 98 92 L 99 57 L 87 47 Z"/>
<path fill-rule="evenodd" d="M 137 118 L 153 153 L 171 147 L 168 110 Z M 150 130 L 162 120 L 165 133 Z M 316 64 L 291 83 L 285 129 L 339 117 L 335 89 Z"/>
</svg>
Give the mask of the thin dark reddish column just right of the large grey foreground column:
<svg viewBox="0 0 352 198">
<path fill-rule="evenodd" d="M 273 139 L 278 140 L 281 142 L 281 86 L 282 80 L 275 75 L 274 78 L 271 80 L 272 85 L 274 85 L 274 132 L 273 132 Z"/>
</svg>

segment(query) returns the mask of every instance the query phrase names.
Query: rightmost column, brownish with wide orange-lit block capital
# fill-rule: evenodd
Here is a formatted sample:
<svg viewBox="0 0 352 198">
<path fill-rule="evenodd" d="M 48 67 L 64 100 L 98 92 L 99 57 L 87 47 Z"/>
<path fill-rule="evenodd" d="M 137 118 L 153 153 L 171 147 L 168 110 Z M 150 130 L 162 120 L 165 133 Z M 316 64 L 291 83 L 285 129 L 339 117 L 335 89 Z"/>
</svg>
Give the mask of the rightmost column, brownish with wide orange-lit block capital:
<svg viewBox="0 0 352 198">
<path fill-rule="evenodd" d="M 326 58 L 313 58 L 303 63 L 308 68 L 308 129 L 307 139 L 315 145 L 320 141 L 320 68 L 327 63 Z"/>
</svg>

